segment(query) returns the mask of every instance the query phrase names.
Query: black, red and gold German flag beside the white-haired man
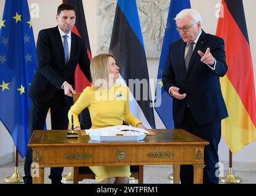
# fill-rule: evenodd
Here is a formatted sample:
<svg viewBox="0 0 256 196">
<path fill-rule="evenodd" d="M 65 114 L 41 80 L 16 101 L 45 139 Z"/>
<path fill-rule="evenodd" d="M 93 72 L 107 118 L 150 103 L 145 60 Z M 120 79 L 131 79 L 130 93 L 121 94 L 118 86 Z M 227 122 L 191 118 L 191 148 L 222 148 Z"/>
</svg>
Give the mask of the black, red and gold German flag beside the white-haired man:
<svg viewBox="0 0 256 196">
<path fill-rule="evenodd" d="M 229 115 L 222 135 L 234 154 L 256 139 L 254 70 L 242 0 L 222 0 L 216 35 L 225 40 L 228 64 L 220 79 Z"/>
</svg>

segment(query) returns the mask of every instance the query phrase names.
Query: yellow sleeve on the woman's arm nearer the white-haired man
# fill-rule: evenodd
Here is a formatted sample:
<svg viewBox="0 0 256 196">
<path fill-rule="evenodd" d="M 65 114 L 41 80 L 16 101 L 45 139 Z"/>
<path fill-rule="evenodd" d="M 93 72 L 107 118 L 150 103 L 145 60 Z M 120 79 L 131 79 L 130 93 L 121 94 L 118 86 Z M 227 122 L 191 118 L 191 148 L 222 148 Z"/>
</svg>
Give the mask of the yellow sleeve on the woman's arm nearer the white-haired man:
<svg viewBox="0 0 256 196">
<path fill-rule="evenodd" d="M 125 99 L 124 99 L 124 121 L 126 123 L 132 125 L 133 127 L 136 127 L 138 123 L 141 123 L 139 119 L 135 118 L 132 113 L 130 113 L 130 105 L 129 105 L 129 88 L 126 87 L 125 93 Z"/>
</svg>

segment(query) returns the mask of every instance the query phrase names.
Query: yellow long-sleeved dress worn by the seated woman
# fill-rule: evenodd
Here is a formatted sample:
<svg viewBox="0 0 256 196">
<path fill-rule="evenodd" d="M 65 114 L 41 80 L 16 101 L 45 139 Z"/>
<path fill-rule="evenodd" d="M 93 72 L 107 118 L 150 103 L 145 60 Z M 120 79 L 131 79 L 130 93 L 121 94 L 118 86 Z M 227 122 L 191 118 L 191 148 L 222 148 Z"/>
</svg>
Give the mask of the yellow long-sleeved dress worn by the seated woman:
<svg viewBox="0 0 256 196">
<path fill-rule="evenodd" d="M 126 123 L 136 126 L 140 121 L 135 118 L 129 109 L 129 88 L 114 83 L 112 88 L 95 89 L 87 86 L 76 103 L 68 112 L 71 122 L 73 115 L 74 126 L 80 126 L 78 115 L 88 107 L 92 121 L 92 129 L 121 125 Z M 96 182 L 99 183 L 110 177 L 129 177 L 130 166 L 94 166 L 90 169 L 95 173 Z"/>
</svg>

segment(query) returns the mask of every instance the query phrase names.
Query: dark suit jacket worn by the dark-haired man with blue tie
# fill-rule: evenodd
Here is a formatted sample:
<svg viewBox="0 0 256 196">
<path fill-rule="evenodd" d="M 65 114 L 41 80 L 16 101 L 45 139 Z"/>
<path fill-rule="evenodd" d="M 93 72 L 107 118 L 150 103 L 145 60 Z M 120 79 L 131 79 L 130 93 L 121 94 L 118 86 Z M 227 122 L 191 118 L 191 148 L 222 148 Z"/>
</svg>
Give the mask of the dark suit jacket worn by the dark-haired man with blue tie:
<svg viewBox="0 0 256 196">
<path fill-rule="evenodd" d="M 87 56 L 84 40 L 71 33 L 71 54 L 66 65 L 58 26 L 39 32 L 36 51 L 38 70 L 34 75 L 28 96 L 42 103 L 52 102 L 55 98 L 60 102 L 63 100 L 66 106 L 73 105 L 72 97 L 65 96 L 61 87 L 64 81 L 67 81 L 74 88 L 74 72 L 78 63 L 84 75 L 90 80 L 90 59 Z"/>
</svg>

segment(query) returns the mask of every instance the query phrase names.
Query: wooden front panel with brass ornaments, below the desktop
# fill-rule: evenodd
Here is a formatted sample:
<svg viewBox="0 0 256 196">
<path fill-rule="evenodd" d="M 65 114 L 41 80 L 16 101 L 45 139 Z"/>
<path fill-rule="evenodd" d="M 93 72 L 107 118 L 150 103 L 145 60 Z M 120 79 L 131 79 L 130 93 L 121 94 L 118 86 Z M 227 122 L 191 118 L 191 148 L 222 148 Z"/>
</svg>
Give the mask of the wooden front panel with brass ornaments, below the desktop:
<svg viewBox="0 0 256 196">
<path fill-rule="evenodd" d="M 201 146 L 116 146 L 97 148 L 44 148 L 34 149 L 34 162 L 50 167 L 82 165 L 164 165 L 203 162 Z M 47 165 L 47 166 L 46 166 Z"/>
</svg>

